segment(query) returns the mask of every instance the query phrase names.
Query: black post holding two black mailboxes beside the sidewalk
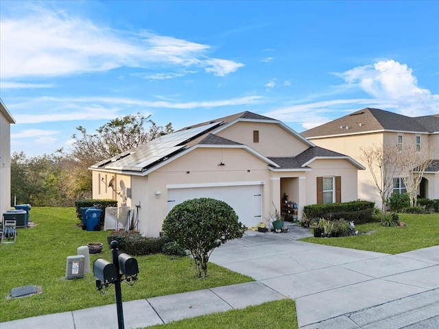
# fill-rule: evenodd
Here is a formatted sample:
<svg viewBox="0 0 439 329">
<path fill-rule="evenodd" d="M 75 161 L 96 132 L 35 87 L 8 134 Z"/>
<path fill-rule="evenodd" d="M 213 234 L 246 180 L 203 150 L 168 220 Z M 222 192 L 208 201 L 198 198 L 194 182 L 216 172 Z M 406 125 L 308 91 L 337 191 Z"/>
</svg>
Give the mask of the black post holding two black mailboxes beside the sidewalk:
<svg viewBox="0 0 439 329">
<path fill-rule="evenodd" d="M 136 258 L 123 253 L 119 254 L 119 243 L 117 241 L 111 241 L 110 246 L 112 263 L 98 258 L 93 263 L 93 273 L 97 278 L 96 287 L 99 291 L 106 287 L 106 291 L 104 291 L 106 293 L 109 285 L 115 284 L 117 323 L 119 324 L 119 329 L 124 329 L 121 281 L 131 282 L 131 285 L 134 284 L 137 281 L 139 266 L 137 265 Z"/>
</svg>

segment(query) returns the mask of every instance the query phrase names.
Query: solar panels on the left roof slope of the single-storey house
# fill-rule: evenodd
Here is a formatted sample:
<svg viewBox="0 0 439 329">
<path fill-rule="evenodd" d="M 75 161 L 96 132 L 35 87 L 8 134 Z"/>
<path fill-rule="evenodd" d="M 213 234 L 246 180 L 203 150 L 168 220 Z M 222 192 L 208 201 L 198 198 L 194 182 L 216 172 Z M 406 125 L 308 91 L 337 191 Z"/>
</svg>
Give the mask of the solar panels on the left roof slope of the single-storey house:
<svg viewBox="0 0 439 329">
<path fill-rule="evenodd" d="M 200 134 L 204 134 L 204 132 L 211 130 L 220 123 L 221 121 L 160 136 L 135 149 L 99 162 L 99 164 L 96 164 L 93 167 L 101 167 L 102 165 L 105 165 L 106 169 L 142 171 L 158 160 L 184 148 L 184 143 L 186 141 L 189 141 Z M 130 154 L 127 156 L 126 154 L 128 153 Z"/>
</svg>

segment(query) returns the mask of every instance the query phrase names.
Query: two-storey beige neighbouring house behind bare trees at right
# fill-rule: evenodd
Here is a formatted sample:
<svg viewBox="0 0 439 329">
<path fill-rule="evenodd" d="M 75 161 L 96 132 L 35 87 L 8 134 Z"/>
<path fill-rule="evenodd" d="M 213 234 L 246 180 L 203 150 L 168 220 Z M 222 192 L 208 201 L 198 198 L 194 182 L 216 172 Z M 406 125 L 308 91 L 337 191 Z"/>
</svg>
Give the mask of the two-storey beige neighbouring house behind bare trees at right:
<svg viewBox="0 0 439 329">
<path fill-rule="evenodd" d="M 351 156 L 364 166 L 361 147 L 386 145 L 416 147 L 427 150 L 431 165 L 425 171 L 418 195 L 439 199 L 439 114 L 425 117 L 406 117 L 401 114 L 364 108 L 302 132 L 301 135 L 315 145 Z M 402 177 L 394 175 L 394 192 L 405 192 Z M 359 172 L 358 197 L 375 202 L 381 207 L 381 197 L 375 189 L 369 169 Z"/>
</svg>

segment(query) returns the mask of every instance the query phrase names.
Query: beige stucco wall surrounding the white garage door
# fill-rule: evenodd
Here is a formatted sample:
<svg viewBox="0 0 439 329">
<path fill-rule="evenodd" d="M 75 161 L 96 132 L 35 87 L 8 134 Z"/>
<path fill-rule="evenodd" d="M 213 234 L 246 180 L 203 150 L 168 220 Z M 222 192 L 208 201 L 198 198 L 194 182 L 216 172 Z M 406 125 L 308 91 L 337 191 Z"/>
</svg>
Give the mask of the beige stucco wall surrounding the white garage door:
<svg viewBox="0 0 439 329">
<path fill-rule="evenodd" d="M 224 166 L 218 166 L 222 162 Z M 187 173 L 189 172 L 189 173 Z M 161 231 L 163 219 L 168 212 L 167 188 L 169 184 L 209 184 L 220 182 L 265 182 L 263 184 L 263 214 L 268 216 L 270 205 L 270 173 L 267 163 L 244 149 L 198 148 L 190 156 L 176 160 L 156 169 L 147 178 L 132 178 L 132 193 L 141 201 L 141 222 L 143 232 L 156 236 Z M 147 182 L 147 184 L 145 184 Z M 147 186 L 145 186 L 147 185 Z M 150 188 L 154 186 L 154 188 Z M 157 199 L 156 191 L 161 195 Z M 139 192 L 141 191 L 141 194 Z M 147 207 L 143 207 L 143 204 Z"/>
</svg>

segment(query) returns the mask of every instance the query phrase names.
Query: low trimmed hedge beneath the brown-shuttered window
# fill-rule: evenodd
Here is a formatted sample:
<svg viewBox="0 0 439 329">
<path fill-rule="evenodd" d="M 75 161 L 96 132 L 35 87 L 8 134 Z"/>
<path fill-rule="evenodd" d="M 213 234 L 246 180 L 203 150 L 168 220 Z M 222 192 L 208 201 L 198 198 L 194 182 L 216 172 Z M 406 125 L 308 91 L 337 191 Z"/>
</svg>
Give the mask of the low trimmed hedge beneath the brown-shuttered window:
<svg viewBox="0 0 439 329">
<path fill-rule="evenodd" d="M 308 219 L 344 219 L 356 224 L 375 221 L 375 202 L 353 201 L 338 204 L 311 204 L 303 207 L 303 214 Z"/>
</svg>

